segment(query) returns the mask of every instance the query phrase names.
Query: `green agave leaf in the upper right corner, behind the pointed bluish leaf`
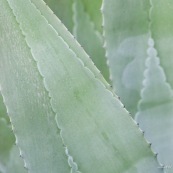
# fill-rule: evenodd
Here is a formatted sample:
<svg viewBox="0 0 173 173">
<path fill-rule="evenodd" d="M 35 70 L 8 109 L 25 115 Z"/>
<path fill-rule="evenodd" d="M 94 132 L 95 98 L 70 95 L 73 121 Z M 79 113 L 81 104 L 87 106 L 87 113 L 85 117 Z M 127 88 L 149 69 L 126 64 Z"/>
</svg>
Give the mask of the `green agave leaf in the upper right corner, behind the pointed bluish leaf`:
<svg viewBox="0 0 173 173">
<path fill-rule="evenodd" d="M 160 65 L 162 66 L 166 80 L 173 88 L 173 1 L 151 0 L 151 34 L 158 51 Z"/>
</svg>

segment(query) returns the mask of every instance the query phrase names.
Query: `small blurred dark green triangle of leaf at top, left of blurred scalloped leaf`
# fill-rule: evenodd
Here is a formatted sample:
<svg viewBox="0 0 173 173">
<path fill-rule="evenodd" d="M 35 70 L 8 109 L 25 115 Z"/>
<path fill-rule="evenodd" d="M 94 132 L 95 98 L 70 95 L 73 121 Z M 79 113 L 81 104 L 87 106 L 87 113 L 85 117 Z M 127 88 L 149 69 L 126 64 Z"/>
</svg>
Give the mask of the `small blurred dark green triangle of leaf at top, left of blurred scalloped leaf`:
<svg viewBox="0 0 173 173">
<path fill-rule="evenodd" d="M 73 31 L 73 0 L 44 0 L 52 11 L 59 17 L 65 24 L 68 30 Z"/>
</svg>

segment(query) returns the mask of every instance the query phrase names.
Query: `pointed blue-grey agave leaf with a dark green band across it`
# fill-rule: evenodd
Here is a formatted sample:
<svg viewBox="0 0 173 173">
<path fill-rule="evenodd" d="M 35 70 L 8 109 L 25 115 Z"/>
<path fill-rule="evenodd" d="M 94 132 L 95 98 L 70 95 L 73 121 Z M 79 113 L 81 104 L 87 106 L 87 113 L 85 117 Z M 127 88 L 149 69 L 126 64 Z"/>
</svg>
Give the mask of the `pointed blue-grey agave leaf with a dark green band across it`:
<svg viewBox="0 0 173 173">
<path fill-rule="evenodd" d="M 173 163 L 173 92 L 166 82 L 154 42 L 149 40 L 144 87 L 136 119 L 163 165 Z M 168 171 L 168 170 L 166 170 Z M 172 170 L 170 170 L 172 172 Z"/>
</svg>

